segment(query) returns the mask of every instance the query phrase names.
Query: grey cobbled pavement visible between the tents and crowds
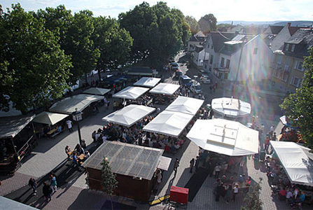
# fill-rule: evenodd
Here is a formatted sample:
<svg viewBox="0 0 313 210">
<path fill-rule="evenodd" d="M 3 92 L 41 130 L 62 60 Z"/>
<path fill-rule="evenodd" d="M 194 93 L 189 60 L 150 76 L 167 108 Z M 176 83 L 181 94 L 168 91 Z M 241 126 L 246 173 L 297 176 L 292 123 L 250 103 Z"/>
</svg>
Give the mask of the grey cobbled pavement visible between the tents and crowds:
<svg viewBox="0 0 313 210">
<path fill-rule="evenodd" d="M 183 71 L 189 74 L 196 73 L 196 69 L 187 69 L 186 65 L 181 67 Z M 177 80 L 173 80 L 169 72 L 160 72 L 165 78 L 166 83 L 178 83 Z M 203 85 L 202 90 L 206 95 L 206 102 L 210 102 L 214 97 L 231 97 L 231 91 L 227 83 L 218 81 L 218 90 L 216 92 L 209 92 L 209 85 Z M 244 96 L 242 96 L 244 97 Z M 277 125 L 279 122 L 279 115 L 275 114 L 277 107 L 271 102 L 267 102 L 260 97 L 250 94 L 249 100 L 253 102 L 253 109 L 256 109 L 256 115 L 258 115 L 259 123 L 265 125 L 265 131 L 270 129 L 271 125 Z M 111 103 L 112 106 L 112 103 Z M 92 144 L 91 134 L 93 130 L 97 130 L 104 125 L 101 120 L 108 113 L 112 112 L 112 107 L 106 110 L 104 106 L 99 108 L 99 113 L 95 116 L 90 116 L 81 121 L 81 135 L 85 139 L 86 144 Z M 1 177 L 2 185 L 0 186 L 0 195 L 6 195 L 13 190 L 27 185 L 29 177 L 39 178 L 49 173 L 52 169 L 60 165 L 62 161 L 67 158 L 64 152 L 65 146 L 69 145 L 72 149 L 78 144 L 78 132 L 77 125 L 74 125 L 74 132 L 69 133 L 67 130 L 57 136 L 55 139 L 39 139 L 39 145 L 34 148 L 34 151 L 27 161 L 25 161 L 15 173 L 15 176 Z M 260 144 L 263 144 L 263 139 L 260 139 Z M 178 172 L 174 177 L 173 164 L 170 165 L 169 171 L 164 172 L 162 183 L 155 197 L 160 197 L 169 193 L 170 186 L 183 187 L 189 181 L 192 174 L 188 172 L 189 161 L 195 158 L 198 154 L 198 147 L 190 142 L 185 142 L 183 148 L 174 155 L 165 154 L 172 158 L 180 159 L 180 166 Z M 256 167 L 253 160 L 248 160 L 247 172 L 253 180 L 258 181 L 259 177 L 263 179 L 262 190 L 260 198 L 263 201 L 263 209 L 286 209 L 284 202 L 273 201 L 271 194 L 272 191 L 267 183 L 267 176 L 263 167 Z M 60 190 L 53 195 L 53 200 L 48 204 L 41 207 L 41 198 L 39 202 L 34 204 L 35 207 L 43 209 L 100 209 L 107 201 L 106 195 L 93 190 L 88 190 L 88 186 L 85 183 L 86 175 L 82 174 L 72 182 L 69 182 L 67 186 L 60 188 Z M 235 203 L 226 204 L 223 199 L 220 202 L 214 201 L 213 195 L 213 183 L 214 179 L 207 177 L 202 184 L 202 187 L 198 191 L 193 202 L 188 203 L 188 209 L 240 209 L 242 204 L 242 198 L 239 198 Z M 166 209 L 165 204 L 159 204 L 154 207 L 149 207 L 148 204 L 139 204 L 131 200 L 127 200 L 123 197 L 113 197 L 116 202 L 122 202 L 135 206 L 137 209 Z"/>
</svg>

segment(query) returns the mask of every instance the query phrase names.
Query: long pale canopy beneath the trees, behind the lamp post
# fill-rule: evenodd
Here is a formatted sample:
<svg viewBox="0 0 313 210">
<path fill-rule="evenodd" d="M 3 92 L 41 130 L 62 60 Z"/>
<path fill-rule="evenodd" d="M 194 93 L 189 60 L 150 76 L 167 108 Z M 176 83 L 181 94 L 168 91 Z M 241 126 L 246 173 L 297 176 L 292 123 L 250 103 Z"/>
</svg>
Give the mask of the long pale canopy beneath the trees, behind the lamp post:
<svg viewBox="0 0 313 210">
<path fill-rule="evenodd" d="M 76 94 L 72 97 L 67 97 L 60 102 L 55 102 L 53 106 L 50 107 L 49 111 L 57 113 L 71 114 L 76 111 L 83 111 L 92 102 L 97 102 L 104 99 L 104 97 L 90 94 Z"/>
</svg>

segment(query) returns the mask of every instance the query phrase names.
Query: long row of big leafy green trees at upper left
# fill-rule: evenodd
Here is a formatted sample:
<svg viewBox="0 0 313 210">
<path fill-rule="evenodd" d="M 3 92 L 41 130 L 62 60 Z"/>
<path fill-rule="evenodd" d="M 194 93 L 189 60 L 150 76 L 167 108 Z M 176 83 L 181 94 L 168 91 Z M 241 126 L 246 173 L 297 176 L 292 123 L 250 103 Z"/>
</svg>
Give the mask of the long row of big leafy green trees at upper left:
<svg viewBox="0 0 313 210">
<path fill-rule="evenodd" d="M 158 68 L 190 38 L 180 10 L 141 3 L 118 20 L 64 6 L 26 12 L 0 6 L 0 110 L 26 113 L 62 97 L 90 71 L 135 62 Z"/>
</svg>

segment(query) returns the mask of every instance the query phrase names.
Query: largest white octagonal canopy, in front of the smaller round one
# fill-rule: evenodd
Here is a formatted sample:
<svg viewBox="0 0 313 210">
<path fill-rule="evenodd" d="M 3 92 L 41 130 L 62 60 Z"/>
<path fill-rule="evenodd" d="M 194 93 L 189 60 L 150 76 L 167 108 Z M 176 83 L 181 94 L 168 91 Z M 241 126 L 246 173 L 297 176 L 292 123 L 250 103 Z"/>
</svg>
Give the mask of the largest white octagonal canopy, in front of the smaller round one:
<svg viewBox="0 0 313 210">
<path fill-rule="evenodd" d="M 230 156 L 258 153 L 258 131 L 231 120 L 197 120 L 187 137 L 215 153 Z"/>
</svg>

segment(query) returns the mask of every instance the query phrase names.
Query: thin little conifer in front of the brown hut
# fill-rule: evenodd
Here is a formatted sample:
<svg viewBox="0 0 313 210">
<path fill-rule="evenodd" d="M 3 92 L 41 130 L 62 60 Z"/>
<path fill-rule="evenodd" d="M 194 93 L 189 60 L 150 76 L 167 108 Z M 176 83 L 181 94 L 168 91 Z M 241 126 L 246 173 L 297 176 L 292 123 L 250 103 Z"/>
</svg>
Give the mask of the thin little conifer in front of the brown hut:
<svg viewBox="0 0 313 210">
<path fill-rule="evenodd" d="M 102 191 L 110 195 L 111 206 L 113 209 L 112 195 L 114 190 L 118 187 L 118 181 L 116 181 L 116 175 L 112 173 L 111 167 L 109 166 L 109 161 L 104 158 L 101 162 L 102 165 Z"/>
</svg>

